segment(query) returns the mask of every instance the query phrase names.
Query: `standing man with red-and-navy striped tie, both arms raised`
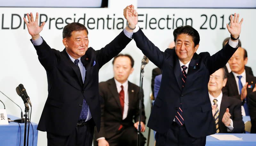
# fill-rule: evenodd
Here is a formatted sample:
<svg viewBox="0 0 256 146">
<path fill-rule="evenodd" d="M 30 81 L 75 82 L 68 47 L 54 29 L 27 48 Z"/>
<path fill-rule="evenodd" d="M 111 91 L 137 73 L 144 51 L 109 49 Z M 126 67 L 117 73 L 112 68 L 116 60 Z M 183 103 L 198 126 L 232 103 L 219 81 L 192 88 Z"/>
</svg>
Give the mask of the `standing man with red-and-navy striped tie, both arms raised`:
<svg viewBox="0 0 256 146">
<path fill-rule="evenodd" d="M 212 107 L 208 94 L 210 75 L 226 65 L 238 47 L 241 24 L 239 14 L 230 16 L 228 44 L 210 56 L 196 53 L 199 34 L 191 26 L 173 31 L 175 50 L 162 52 L 143 34 L 137 25 L 134 6 L 124 9 L 130 35 L 137 47 L 162 71 L 162 81 L 148 127 L 156 131 L 156 145 L 205 145 L 206 136 L 215 133 Z"/>
</svg>

